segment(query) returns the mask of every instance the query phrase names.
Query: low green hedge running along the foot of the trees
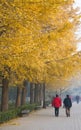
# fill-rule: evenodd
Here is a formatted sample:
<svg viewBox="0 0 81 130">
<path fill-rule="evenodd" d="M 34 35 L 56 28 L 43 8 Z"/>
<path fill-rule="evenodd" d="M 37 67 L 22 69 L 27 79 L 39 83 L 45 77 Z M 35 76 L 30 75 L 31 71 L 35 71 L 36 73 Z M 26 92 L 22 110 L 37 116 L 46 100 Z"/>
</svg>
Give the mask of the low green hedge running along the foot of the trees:
<svg viewBox="0 0 81 130">
<path fill-rule="evenodd" d="M 24 109 L 30 110 L 30 111 L 35 110 L 36 106 L 37 106 L 36 104 L 28 104 L 28 105 L 24 105 L 24 106 L 18 107 L 13 110 L 0 112 L 0 123 L 6 122 L 10 119 L 18 117 L 20 115 L 21 111 Z"/>
</svg>

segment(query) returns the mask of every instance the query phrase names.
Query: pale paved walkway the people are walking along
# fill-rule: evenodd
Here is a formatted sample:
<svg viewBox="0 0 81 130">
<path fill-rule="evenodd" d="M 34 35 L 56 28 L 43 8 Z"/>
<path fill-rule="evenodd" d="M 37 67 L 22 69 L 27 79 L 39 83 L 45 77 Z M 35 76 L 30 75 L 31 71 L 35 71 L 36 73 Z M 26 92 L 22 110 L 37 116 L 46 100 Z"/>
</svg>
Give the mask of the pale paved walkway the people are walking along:
<svg viewBox="0 0 81 130">
<path fill-rule="evenodd" d="M 65 116 L 64 108 L 55 117 L 53 108 L 49 107 L 12 120 L 0 126 L 0 130 L 81 130 L 81 103 L 73 104 L 71 117 Z"/>
</svg>

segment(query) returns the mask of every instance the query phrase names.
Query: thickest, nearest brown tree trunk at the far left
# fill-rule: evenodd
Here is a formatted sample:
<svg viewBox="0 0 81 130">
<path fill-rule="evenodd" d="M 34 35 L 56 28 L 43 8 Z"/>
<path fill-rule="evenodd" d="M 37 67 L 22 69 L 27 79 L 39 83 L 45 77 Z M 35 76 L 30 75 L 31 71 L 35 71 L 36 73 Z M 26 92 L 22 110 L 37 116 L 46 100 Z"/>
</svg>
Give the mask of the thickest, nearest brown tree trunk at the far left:
<svg viewBox="0 0 81 130">
<path fill-rule="evenodd" d="M 1 111 L 8 110 L 8 84 L 7 78 L 2 80 L 2 99 L 1 99 Z"/>
</svg>

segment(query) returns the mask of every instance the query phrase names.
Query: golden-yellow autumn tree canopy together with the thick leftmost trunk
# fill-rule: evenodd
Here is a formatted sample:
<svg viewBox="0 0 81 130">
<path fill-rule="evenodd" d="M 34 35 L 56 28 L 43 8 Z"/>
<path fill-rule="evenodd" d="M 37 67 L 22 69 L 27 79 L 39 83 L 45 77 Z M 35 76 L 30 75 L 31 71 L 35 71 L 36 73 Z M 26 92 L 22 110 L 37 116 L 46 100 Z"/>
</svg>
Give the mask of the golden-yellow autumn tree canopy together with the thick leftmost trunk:
<svg viewBox="0 0 81 130">
<path fill-rule="evenodd" d="M 76 50 L 76 12 L 73 0 L 0 1 L 2 111 L 8 109 L 9 86 L 54 83 L 74 72 L 75 63 L 64 59 Z"/>
</svg>

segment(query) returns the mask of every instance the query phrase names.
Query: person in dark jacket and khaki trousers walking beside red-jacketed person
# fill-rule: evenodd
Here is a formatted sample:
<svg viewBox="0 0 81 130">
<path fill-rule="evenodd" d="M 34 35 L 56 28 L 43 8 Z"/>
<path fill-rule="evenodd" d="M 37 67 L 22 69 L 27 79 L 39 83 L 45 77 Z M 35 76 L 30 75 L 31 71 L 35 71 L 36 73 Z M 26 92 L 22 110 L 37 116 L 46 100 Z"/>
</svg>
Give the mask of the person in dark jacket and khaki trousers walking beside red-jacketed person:
<svg viewBox="0 0 81 130">
<path fill-rule="evenodd" d="M 66 116 L 69 117 L 70 116 L 70 108 L 72 107 L 72 101 L 71 101 L 71 98 L 69 97 L 69 95 L 66 96 L 63 103 L 64 103 L 64 107 L 66 109 Z"/>
</svg>

